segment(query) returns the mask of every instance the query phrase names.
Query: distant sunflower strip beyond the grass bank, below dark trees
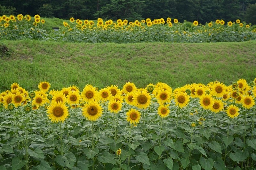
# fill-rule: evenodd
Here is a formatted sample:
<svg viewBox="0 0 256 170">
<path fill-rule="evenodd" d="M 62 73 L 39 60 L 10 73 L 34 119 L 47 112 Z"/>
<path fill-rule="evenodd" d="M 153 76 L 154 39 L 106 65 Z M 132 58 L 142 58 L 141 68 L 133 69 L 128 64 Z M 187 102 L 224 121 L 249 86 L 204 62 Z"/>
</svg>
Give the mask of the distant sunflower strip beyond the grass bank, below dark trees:
<svg viewBox="0 0 256 170">
<path fill-rule="evenodd" d="M 176 18 L 146 18 L 82 20 L 70 18 L 63 21 L 57 31 L 46 31 L 45 20 L 39 15 L 3 15 L 0 17 L 0 38 L 3 40 L 34 39 L 43 41 L 89 43 L 138 42 L 232 42 L 256 40 L 256 27 L 251 24 L 217 19 L 201 25 L 198 21 L 180 23 Z"/>
</svg>

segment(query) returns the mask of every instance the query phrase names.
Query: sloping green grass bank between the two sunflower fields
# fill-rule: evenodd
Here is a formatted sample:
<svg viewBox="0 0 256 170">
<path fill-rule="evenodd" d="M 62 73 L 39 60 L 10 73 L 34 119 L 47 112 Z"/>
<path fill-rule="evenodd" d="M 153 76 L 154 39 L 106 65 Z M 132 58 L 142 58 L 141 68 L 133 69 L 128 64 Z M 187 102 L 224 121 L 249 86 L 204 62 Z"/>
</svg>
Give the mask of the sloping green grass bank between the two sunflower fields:
<svg viewBox="0 0 256 170">
<path fill-rule="evenodd" d="M 219 80 L 230 85 L 256 77 L 256 41 L 223 43 L 64 43 L 0 41 L 10 50 L 0 58 L 0 91 L 13 82 L 36 90 L 40 81 L 51 89 L 86 84 L 120 88 L 131 81 L 145 87 L 158 81 L 173 88 Z"/>
</svg>

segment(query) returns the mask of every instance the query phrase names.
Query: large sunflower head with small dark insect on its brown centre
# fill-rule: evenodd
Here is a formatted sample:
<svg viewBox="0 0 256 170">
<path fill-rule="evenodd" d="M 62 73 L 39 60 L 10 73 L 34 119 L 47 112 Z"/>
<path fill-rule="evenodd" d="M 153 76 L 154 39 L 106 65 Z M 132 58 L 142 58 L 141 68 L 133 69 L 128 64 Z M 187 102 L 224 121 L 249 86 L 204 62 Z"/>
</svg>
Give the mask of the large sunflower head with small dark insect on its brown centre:
<svg viewBox="0 0 256 170">
<path fill-rule="evenodd" d="M 96 121 L 102 115 L 102 107 L 96 101 L 90 101 L 82 108 L 82 113 L 89 121 Z"/>
</svg>

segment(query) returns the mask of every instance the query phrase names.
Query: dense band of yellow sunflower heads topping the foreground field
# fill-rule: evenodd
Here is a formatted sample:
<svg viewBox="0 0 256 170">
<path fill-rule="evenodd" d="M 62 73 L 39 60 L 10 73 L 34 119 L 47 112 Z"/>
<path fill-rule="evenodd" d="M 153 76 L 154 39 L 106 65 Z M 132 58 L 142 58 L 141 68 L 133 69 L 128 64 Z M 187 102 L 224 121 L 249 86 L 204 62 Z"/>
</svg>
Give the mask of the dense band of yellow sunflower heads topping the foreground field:
<svg viewBox="0 0 256 170">
<path fill-rule="evenodd" d="M 148 84 L 145 88 L 137 88 L 134 83 L 127 82 L 122 89 L 116 85 L 110 85 L 100 90 L 87 84 L 82 92 L 76 85 L 49 91 L 50 87 L 50 83 L 44 81 L 39 83 L 39 90 L 28 92 L 19 84 L 13 83 L 10 90 L 0 93 L 0 100 L 4 108 L 9 110 L 25 105 L 32 106 L 32 109 L 45 106 L 52 122 L 64 122 L 68 117 L 68 106 L 82 107 L 83 115 L 89 121 L 96 121 L 102 114 L 102 103 L 108 102 L 108 110 L 111 113 L 117 113 L 122 109 L 124 102 L 138 109 L 147 109 L 153 101 L 157 101 L 158 114 L 166 117 L 170 112 L 168 107 L 171 100 L 174 101 L 175 106 L 183 108 L 193 98 L 199 99 L 203 109 L 219 113 L 225 108 L 227 115 L 234 118 L 239 115 L 238 105 L 241 104 L 243 108 L 250 109 L 255 105 L 256 97 L 256 78 L 250 85 L 246 80 L 239 79 L 229 86 L 220 82 L 210 82 L 208 85 L 189 84 L 174 90 L 162 82 L 155 85 Z M 237 106 L 229 105 L 230 100 Z M 132 116 L 127 117 L 128 119 L 131 123 L 139 122 Z"/>
</svg>

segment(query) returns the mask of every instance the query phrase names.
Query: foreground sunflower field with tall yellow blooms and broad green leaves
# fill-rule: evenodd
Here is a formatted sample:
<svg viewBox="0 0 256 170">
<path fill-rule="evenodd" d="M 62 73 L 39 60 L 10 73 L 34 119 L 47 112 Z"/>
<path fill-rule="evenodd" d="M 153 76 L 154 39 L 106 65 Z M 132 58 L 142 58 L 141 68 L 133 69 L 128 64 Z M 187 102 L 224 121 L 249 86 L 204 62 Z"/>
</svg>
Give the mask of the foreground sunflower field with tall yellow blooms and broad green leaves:
<svg viewBox="0 0 256 170">
<path fill-rule="evenodd" d="M 0 169 L 254 169 L 256 78 L 0 93 Z"/>
</svg>

